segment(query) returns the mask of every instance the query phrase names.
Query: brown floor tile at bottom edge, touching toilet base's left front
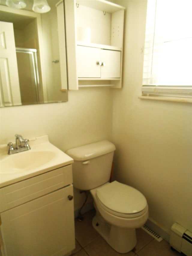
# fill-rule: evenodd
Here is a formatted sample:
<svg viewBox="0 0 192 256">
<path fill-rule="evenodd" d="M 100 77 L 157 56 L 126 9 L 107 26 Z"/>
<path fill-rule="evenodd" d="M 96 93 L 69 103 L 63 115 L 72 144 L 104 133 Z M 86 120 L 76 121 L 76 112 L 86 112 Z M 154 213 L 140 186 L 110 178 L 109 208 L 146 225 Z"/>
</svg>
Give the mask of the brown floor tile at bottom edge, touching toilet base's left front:
<svg viewBox="0 0 192 256">
<path fill-rule="evenodd" d="M 99 236 L 93 242 L 85 246 L 84 249 L 89 256 L 117 256 L 117 255 L 134 256 L 136 255 L 133 251 L 125 254 L 116 252 L 101 236 Z"/>
</svg>

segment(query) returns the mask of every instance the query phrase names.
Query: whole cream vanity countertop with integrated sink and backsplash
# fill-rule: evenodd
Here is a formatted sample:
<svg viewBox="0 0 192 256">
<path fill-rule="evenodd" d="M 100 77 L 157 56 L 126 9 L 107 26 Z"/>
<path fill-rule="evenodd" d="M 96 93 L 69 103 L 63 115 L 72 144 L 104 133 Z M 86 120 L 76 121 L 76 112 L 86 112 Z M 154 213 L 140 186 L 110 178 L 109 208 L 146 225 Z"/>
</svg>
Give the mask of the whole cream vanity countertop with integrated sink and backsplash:
<svg viewBox="0 0 192 256">
<path fill-rule="evenodd" d="M 73 158 L 49 142 L 44 135 L 29 139 L 30 150 L 8 155 L 0 145 L 0 188 L 69 165 Z"/>
</svg>

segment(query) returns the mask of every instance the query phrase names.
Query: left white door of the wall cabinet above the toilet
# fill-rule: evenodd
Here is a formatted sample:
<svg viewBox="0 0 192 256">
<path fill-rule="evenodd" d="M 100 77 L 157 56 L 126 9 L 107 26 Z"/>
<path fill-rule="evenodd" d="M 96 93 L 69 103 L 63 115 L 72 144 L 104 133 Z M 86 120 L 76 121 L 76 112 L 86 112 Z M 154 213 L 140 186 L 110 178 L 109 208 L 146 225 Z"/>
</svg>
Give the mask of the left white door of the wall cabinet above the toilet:
<svg viewBox="0 0 192 256">
<path fill-rule="evenodd" d="M 98 62 L 101 60 L 101 49 L 86 46 L 77 46 L 77 76 L 78 77 L 101 77 L 101 68 Z"/>
</svg>

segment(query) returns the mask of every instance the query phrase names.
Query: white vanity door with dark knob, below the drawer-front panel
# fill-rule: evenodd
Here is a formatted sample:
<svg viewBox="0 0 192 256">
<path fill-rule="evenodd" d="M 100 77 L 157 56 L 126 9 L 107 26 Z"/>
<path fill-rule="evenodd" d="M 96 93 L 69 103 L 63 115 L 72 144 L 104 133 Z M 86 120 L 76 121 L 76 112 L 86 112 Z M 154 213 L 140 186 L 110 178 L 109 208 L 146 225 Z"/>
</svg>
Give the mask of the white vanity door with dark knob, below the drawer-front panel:
<svg viewBox="0 0 192 256">
<path fill-rule="evenodd" d="M 75 248 L 73 185 L 1 213 L 7 256 L 63 256 Z"/>
</svg>

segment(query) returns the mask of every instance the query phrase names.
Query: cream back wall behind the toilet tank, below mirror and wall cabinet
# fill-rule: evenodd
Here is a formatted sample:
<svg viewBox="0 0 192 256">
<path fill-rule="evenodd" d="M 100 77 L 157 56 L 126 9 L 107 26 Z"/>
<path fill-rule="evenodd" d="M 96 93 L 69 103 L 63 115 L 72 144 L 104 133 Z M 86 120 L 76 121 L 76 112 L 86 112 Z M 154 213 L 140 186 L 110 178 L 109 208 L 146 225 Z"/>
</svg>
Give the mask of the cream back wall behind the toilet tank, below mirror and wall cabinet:
<svg viewBox="0 0 192 256">
<path fill-rule="evenodd" d="M 63 151 L 98 140 L 111 140 L 110 88 L 69 91 L 68 100 L 64 103 L 0 108 L 0 144 L 14 142 L 16 133 L 24 138 L 47 134 L 50 142 Z M 74 192 L 76 210 L 82 206 L 85 195 Z"/>
</svg>

